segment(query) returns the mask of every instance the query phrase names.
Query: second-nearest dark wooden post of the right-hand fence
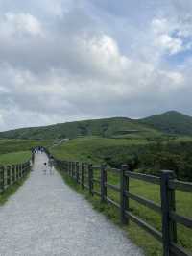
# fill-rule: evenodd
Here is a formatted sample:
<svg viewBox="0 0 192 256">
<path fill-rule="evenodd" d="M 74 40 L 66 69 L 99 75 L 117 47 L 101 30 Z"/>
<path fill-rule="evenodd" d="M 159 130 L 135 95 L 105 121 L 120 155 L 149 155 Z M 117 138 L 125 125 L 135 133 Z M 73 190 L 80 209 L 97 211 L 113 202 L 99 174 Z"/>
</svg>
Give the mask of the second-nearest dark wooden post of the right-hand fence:
<svg viewBox="0 0 192 256">
<path fill-rule="evenodd" d="M 128 189 L 128 178 L 125 176 L 125 172 L 128 170 L 128 165 L 121 166 L 120 173 L 120 211 L 121 211 L 121 223 L 127 224 L 128 218 L 126 217 L 126 210 L 128 209 L 128 197 L 125 191 Z"/>
</svg>

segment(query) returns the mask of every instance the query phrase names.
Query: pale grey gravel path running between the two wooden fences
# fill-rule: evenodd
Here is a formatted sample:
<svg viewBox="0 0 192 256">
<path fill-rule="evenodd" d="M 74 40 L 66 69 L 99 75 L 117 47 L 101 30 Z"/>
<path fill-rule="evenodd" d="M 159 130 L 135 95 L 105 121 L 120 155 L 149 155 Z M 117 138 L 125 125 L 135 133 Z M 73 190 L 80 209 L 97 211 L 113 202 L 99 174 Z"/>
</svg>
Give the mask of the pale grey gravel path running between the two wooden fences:
<svg viewBox="0 0 192 256">
<path fill-rule="evenodd" d="M 140 256 L 118 227 L 65 185 L 43 174 L 44 154 L 6 205 L 0 207 L 1 256 Z"/>
</svg>

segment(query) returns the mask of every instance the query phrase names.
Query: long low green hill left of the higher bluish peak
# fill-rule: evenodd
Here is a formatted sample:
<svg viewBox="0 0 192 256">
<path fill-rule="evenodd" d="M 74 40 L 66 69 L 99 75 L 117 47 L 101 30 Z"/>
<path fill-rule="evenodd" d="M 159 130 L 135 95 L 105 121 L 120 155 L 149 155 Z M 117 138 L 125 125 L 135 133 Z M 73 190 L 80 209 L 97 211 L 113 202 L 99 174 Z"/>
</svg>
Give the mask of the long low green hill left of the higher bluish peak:
<svg viewBox="0 0 192 256">
<path fill-rule="evenodd" d="M 7 139 L 74 139 L 79 136 L 102 136 L 121 138 L 159 135 L 138 121 L 124 117 L 66 122 L 44 127 L 22 128 L 1 132 L 0 138 Z"/>
</svg>

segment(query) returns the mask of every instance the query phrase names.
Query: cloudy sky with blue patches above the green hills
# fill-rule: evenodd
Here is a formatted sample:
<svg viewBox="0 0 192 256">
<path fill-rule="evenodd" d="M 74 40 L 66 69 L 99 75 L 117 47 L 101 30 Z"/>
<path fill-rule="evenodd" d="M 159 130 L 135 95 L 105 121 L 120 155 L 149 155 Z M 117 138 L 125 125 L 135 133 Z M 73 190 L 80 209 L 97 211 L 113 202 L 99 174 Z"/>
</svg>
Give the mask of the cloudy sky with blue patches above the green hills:
<svg viewBox="0 0 192 256">
<path fill-rule="evenodd" d="M 192 115 L 191 0 L 0 0 L 0 131 Z"/>
</svg>

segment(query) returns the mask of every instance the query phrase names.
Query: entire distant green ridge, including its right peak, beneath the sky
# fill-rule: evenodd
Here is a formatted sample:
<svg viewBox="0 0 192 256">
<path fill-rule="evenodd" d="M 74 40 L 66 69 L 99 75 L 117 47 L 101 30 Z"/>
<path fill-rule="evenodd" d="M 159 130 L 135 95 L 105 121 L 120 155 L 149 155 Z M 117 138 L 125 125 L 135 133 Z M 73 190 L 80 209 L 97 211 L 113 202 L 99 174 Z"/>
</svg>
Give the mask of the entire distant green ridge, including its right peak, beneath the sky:
<svg viewBox="0 0 192 256">
<path fill-rule="evenodd" d="M 151 137 L 162 133 L 192 136 L 192 117 L 177 111 L 169 111 L 138 120 L 128 117 L 111 117 L 74 121 L 0 132 L 0 138 L 45 140 L 74 139 L 90 135 L 123 138 L 126 135 Z"/>
</svg>

